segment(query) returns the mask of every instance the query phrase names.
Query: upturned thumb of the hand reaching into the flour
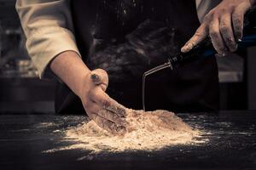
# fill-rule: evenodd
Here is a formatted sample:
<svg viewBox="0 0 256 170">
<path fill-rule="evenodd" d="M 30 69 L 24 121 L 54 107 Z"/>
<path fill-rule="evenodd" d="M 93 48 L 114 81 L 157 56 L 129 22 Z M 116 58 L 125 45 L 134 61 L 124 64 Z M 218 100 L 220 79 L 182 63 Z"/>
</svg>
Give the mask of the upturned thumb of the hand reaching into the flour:
<svg viewBox="0 0 256 170">
<path fill-rule="evenodd" d="M 96 86 L 101 86 L 103 91 L 108 88 L 108 73 L 102 69 L 96 69 L 90 72 L 90 78 Z"/>
</svg>

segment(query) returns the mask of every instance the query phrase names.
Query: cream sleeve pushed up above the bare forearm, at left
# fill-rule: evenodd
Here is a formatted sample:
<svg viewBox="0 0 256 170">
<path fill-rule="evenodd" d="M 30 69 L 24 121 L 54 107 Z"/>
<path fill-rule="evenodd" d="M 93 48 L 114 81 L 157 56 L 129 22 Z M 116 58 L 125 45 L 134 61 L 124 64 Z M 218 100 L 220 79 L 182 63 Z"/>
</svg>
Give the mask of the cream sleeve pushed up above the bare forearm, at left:
<svg viewBox="0 0 256 170">
<path fill-rule="evenodd" d="M 69 50 L 79 54 L 67 0 L 17 0 L 16 10 L 26 34 L 28 54 L 40 77 L 56 55 Z"/>
</svg>

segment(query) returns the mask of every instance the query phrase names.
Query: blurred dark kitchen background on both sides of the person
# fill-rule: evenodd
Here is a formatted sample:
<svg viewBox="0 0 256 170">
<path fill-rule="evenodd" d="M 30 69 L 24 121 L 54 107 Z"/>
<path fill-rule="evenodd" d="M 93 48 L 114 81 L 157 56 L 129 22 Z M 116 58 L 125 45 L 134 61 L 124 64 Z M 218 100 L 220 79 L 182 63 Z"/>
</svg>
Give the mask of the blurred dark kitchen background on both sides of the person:
<svg viewBox="0 0 256 170">
<path fill-rule="evenodd" d="M 55 82 L 40 80 L 26 48 L 15 0 L 0 0 L 0 113 L 54 114 Z M 221 110 L 256 109 L 256 48 L 218 58 Z"/>
</svg>

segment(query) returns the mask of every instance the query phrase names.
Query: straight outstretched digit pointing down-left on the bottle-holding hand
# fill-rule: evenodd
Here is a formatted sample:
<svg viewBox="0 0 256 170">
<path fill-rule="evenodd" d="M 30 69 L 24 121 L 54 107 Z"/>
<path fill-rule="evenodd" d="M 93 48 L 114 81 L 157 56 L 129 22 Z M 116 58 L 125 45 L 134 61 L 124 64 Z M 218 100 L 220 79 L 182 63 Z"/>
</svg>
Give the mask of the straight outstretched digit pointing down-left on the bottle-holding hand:
<svg viewBox="0 0 256 170">
<path fill-rule="evenodd" d="M 196 31 L 193 37 L 189 39 L 189 42 L 181 48 L 181 52 L 188 53 L 192 48 L 194 48 L 198 43 L 207 37 L 207 25 L 202 24 Z"/>
</svg>

